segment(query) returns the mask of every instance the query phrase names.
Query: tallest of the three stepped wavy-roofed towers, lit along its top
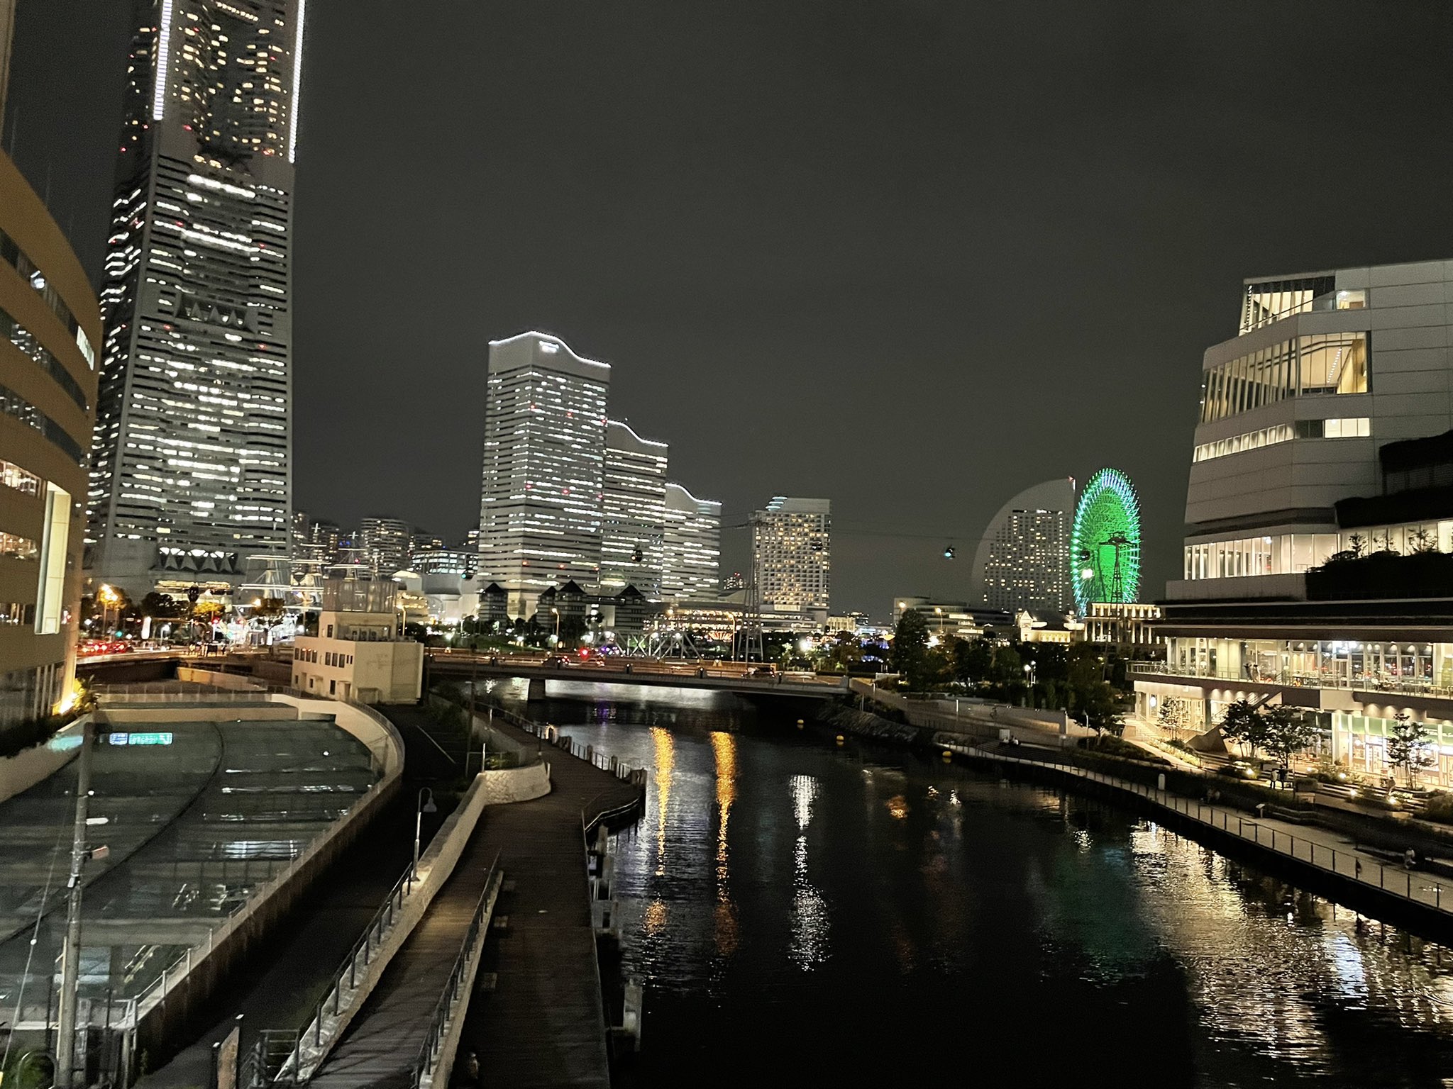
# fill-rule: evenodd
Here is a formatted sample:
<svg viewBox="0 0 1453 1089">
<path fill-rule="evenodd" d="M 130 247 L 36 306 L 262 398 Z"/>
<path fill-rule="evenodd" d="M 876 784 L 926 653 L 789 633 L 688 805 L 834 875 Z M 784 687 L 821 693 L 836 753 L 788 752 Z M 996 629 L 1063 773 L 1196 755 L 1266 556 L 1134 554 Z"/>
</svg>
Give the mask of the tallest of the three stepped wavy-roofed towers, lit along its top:
<svg viewBox="0 0 1453 1089">
<path fill-rule="evenodd" d="M 558 337 L 490 343 L 479 488 L 479 579 L 533 613 L 552 585 L 600 579 L 610 364 Z"/>
</svg>

